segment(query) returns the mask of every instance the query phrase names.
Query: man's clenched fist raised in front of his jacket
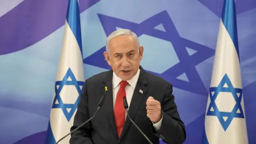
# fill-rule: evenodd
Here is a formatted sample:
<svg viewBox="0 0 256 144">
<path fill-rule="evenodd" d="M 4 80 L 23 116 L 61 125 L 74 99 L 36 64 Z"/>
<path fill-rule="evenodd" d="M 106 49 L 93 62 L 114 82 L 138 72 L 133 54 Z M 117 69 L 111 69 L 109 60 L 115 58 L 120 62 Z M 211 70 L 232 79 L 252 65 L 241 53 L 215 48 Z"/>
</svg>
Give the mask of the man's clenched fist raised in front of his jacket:
<svg viewBox="0 0 256 144">
<path fill-rule="evenodd" d="M 148 97 L 146 102 L 146 110 L 147 116 L 152 122 L 157 123 L 162 119 L 161 104 L 152 96 Z"/>
</svg>

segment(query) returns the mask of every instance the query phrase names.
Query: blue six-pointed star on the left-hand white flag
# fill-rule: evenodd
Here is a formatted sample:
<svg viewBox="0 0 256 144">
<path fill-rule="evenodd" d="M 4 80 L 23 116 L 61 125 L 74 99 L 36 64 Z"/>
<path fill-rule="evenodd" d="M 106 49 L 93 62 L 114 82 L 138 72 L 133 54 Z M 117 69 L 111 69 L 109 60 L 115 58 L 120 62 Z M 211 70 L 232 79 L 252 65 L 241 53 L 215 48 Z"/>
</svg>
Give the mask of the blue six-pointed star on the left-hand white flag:
<svg viewBox="0 0 256 144">
<path fill-rule="evenodd" d="M 78 92 L 78 98 L 76 99 L 74 104 L 64 104 L 62 98 L 60 97 L 60 92 L 63 89 L 65 85 L 73 85 L 76 87 L 76 90 Z M 62 81 L 56 81 L 55 82 L 55 97 L 53 100 L 52 108 L 61 108 L 62 112 L 64 113 L 66 119 L 68 122 L 72 118 L 74 112 L 76 111 L 78 102 L 80 100 L 82 88 L 84 86 L 84 82 L 82 81 L 77 81 L 76 77 L 74 76 L 72 70 L 69 68 L 62 79 Z M 71 95 L 72 96 L 72 95 Z M 75 95 L 74 95 L 75 96 Z M 70 111 L 68 111 L 68 109 Z"/>
</svg>

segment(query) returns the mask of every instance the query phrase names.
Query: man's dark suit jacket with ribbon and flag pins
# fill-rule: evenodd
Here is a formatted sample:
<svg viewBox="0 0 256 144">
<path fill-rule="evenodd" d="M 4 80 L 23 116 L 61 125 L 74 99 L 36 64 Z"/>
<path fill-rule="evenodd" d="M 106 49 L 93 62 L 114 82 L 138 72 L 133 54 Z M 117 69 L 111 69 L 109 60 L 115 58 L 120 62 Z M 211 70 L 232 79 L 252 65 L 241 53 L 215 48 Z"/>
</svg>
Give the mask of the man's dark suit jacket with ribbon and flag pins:
<svg viewBox="0 0 256 144">
<path fill-rule="evenodd" d="M 148 144 L 128 117 L 118 139 L 113 114 L 112 75 L 113 71 L 110 70 L 85 81 L 71 131 L 93 116 L 102 95 L 105 94 L 106 98 L 94 119 L 71 134 L 70 144 Z M 105 86 L 108 91 L 105 91 Z M 143 94 L 139 92 L 140 89 L 143 90 Z M 153 96 L 161 103 L 163 117 L 158 132 L 147 117 L 146 100 L 149 96 Z M 146 72 L 142 67 L 128 113 L 154 144 L 159 144 L 159 138 L 168 144 L 182 144 L 186 139 L 185 126 L 174 103 L 172 84 Z"/>
</svg>

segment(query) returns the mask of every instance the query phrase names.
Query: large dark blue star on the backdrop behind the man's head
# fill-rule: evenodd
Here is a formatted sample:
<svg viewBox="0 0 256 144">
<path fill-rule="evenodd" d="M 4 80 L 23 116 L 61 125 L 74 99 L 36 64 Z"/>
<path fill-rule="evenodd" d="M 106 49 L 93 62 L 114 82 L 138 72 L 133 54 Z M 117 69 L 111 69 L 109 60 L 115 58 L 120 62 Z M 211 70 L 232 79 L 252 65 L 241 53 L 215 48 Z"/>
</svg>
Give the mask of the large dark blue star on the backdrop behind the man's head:
<svg viewBox="0 0 256 144">
<path fill-rule="evenodd" d="M 196 70 L 196 65 L 214 56 L 215 50 L 180 37 L 167 11 L 162 11 L 148 18 L 147 20 L 144 20 L 140 24 L 106 16 L 103 14 L 98 14 L 98 17 L 102 23 L 106 36 L 108 36 L 117 28 L 126 28 L 135 32 L 138 37 L 142 34 L 145 34 L 171 42 L 180 62 L 171 68 L 168 68 L 161 74 L 155 72 L 151 73 L 165 78 L 176 88 L 208 96 L 208 91 L 204 87 L 204 84 Z M 155 28 L 160 24 L 162 24 L 165 31 Z M 197 52 L 190 55 L 186 50 L 186 47 L 196 50 Z M 103 52 L 105 50 L 106 46 L 85 58 L 84 63 L 101 68 L 111 69 L 103 56 Z M 147 71 L 150 72 L 149 70 Z M 182 74 L 186 74 L 188 81 L 180 80 L 177 78 Z"/>
</svg>

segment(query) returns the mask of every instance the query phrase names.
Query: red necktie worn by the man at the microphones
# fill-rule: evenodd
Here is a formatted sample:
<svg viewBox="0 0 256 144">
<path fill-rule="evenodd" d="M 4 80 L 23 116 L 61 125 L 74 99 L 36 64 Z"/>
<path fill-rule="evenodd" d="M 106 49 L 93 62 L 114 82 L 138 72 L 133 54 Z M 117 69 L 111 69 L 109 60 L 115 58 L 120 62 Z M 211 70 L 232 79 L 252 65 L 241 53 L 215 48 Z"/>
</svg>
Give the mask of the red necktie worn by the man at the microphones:
<svg viewBox="0 0 256 144">
<path fill-rule="evenodd" d="M 124 121 L 125 121 L 125 109 L 124 109 L 124 102 L 123 98 L 126 96 L 125 87 L 127 86 L 128 82 L 121 81 L 120 88 L 116 95 L 116 102 L 114 106 L 114 117 L 116 121 L 116 129 L 118 133 L 118 137 L 120 137 L 121 132 L 123 130 Z"/>
</svg>

